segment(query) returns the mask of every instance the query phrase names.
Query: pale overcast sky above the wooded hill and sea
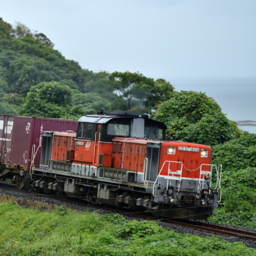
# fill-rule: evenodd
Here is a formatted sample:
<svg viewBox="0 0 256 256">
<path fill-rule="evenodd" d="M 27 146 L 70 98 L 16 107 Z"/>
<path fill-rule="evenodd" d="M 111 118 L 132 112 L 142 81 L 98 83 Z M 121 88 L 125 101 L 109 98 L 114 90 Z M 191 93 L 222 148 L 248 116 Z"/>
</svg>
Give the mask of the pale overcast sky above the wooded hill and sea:
<svg viewBox="0 0 256 256">
<path fill-rule="evenodd" d="M 178 90 L 184 79 L 256 78 L 256 0 L 0 0 L 0 17 L 94 72 L 139 71 Z"/>
</svg>

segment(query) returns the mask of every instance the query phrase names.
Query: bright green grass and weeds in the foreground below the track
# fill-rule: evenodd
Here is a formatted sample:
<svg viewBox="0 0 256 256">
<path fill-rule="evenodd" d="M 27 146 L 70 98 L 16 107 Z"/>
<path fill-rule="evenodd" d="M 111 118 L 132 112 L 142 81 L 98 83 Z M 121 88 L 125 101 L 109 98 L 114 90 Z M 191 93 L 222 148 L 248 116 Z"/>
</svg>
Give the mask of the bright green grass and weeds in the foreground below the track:
<svg viewBox="0 0 256 256">
<path fill-rule="evenodd" d="M 2 256 L 256 254 L 255 249 L 242 243 L 178 234 L 153 221 L 127 221 L 119 215 L 77 214 L 63 208 L 24 209 L 11 203 L 0 203 L 0 234 Z"/>
</svg>

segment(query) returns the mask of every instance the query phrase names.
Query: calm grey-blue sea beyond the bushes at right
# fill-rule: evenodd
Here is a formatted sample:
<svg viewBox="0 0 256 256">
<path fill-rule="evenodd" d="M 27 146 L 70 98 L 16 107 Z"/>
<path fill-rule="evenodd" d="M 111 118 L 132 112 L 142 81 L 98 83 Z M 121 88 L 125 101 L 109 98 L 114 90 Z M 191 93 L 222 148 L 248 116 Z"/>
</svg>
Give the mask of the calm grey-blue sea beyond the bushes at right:
<svg viewBox="0 0 256 256">
<path fill-rule="evenodd" d="M 222 112 L 232 121 L 255 121 L 256 78 L 174 78 L 169 80 L 176 91 L 204 92 L 214 98 Z M 256 126 L 239 125 L 243 131 L 256 133 Z"/>
</svg>

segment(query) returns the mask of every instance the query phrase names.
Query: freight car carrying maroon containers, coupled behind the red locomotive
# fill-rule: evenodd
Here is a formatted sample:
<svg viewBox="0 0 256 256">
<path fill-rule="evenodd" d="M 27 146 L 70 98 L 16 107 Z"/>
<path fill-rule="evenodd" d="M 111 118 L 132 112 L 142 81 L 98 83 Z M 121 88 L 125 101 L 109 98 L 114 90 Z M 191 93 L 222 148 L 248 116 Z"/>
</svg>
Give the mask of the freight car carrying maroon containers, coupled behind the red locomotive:
<svg viewBox="0 0 256 256">
<path fill-rule="evenodd" d="M 0 179 L 11 178 L 19 188 L 28 186 L 32 167 L 40 164 L 43 131 L 77 127 L 77 121 L 0 115 Z"/>
</svg>

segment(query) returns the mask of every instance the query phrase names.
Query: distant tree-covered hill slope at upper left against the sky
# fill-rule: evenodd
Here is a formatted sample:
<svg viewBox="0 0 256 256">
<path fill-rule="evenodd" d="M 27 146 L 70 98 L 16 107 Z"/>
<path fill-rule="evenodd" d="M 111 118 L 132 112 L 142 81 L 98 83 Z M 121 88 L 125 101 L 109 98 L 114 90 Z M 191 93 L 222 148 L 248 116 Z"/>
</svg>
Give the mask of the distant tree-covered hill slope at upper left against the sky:
<svg viewBox="0 0 256 256">
<path fill-rule="evenodd" d="M 1 36 L 3 31 L 3 36 Z M 43 33 L 32 33 L 23 24 L 0 20 L 0 90 L 2 81 L 8 93 L 24 97 L 30 87 L 42 81 L 63 81 L 71 89 L 83 90 L 90 72 L 77 62 L 66 60 Z M 1 92 L 1 91 L 0 91 Z"/>
</svg>

